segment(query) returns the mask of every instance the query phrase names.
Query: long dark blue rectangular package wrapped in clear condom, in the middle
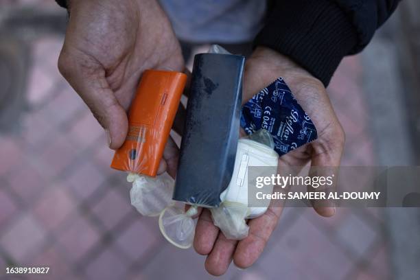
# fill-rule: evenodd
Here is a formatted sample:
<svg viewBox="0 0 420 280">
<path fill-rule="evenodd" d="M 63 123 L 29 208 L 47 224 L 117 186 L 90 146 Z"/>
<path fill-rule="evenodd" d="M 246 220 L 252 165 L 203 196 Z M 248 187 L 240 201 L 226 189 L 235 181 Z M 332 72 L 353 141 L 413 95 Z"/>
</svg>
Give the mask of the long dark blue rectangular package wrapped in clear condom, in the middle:
<svg viewBox="0 0 420 280">
<path fill-rule="evenodd" d="M 220 204 L 235 165 L 244 62 L 232 54 L 194 57 L 174 200 Z"/>
</svg>

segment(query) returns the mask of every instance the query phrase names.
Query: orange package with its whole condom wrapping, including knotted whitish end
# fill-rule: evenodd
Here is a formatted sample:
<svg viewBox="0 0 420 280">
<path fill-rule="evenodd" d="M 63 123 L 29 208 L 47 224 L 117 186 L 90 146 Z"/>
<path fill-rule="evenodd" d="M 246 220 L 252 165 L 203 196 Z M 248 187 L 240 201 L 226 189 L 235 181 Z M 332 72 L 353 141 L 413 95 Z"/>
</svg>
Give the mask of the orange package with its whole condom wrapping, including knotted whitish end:
<svg viewBox="0 0 420 280">
<path fill-rule="evenodd" d="M 159 215 L 172 202 L 174 180 L 156 173 L 186 80 L 184 73 L 174 71 L 143 73 L 128 113 L 126 141 L 110 165 L 129 172 L 131 203 L 142 215 Z"/>
</svg>

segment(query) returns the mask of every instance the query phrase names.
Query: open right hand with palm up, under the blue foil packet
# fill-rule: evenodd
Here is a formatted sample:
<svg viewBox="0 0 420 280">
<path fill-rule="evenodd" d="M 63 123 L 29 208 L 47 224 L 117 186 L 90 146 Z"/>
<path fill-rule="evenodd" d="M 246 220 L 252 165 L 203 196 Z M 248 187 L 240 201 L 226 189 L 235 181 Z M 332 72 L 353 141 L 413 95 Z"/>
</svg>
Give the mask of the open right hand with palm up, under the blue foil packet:
<svg viewBox="0 0 420 280">
<path fill-rule="evenodd" d="M 338 167 L 345 135 L 325 87 L 292 60 L 271 49 L 257 47 L 246 62 L 244 102 L 280 76 L 287 82 L 303 110 L 311 117 L 318 130 L 318 139 L 281 156 L 279 172 L 288 167 L 302 167 L 307 163 L 311 163 L 312 167 Z M 327 207 L 325 202 L 314 201 L 312 205 L 320 215 L 328 217 L 335 213 L 334 206 Z M 205 261 L 207 271 L 211 275 L 223 275 L 232 260 L 240 268 L 251 266 L 264 250 L 282 210 L 280 202 L 273 200 L 264 215 L 248 221 L 248 237 L 238 242 L 227 240 L 214 226 L 209 210 L 203 209 L 196 226 L 194 248 L 197 253 L 208 255 Z"/>
</svg>

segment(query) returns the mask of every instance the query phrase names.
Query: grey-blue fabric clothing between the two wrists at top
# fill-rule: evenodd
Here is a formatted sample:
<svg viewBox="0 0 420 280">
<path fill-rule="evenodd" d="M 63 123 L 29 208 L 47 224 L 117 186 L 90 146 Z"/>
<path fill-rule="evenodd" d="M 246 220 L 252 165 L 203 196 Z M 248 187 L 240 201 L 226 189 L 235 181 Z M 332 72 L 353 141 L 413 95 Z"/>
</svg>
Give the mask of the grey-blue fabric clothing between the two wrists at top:
<svg viewBox="0 0 420 280">
<path fill-rule="evenodd" d="M 252 41 L 263 25 L 265 0 L 160 0 L 176 36 L 191 43 Z"/>
</svg>

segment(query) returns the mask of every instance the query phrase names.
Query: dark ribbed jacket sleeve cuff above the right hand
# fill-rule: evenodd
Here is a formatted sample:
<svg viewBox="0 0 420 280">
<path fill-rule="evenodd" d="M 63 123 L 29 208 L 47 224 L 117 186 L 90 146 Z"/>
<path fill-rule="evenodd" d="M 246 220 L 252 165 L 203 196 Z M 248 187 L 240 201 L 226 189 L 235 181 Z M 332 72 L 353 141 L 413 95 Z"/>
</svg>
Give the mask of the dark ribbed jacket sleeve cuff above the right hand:
<svg viewBox="0 0 420 280">
<path fill-rule="evenodd" d="M 289 56 L 327 86 L 342 58 L 366 47 L 399 1 L 273 1 L 255 45 Z"/>
</svg>

